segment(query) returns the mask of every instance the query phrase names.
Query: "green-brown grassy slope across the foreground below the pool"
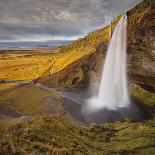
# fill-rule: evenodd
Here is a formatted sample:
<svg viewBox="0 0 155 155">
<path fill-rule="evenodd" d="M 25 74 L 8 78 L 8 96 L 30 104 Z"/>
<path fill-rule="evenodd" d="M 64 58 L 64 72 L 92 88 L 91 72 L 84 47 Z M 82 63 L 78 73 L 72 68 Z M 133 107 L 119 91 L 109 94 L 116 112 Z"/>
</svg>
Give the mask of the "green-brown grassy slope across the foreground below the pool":
<svg viewBox="0 0 155 155">
<path fill-rule="evenodd" d="M 155 121 L 84 127 L 59 116 L 37 117 L 3 132 L 0 149 L 19 154 L 153 155 Z"/>
</svg>

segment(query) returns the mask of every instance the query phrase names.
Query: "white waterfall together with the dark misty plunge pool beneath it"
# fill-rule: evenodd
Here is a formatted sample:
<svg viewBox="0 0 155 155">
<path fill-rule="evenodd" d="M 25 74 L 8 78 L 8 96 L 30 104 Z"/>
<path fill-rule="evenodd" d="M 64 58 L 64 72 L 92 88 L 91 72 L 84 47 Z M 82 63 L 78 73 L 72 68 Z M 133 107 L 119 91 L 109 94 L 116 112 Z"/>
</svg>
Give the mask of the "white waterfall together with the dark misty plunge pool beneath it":
<svg viewBox="0 0 155 155">
<path fill-rule="evenodd" d="M 107 51 L 99 92 L 82 107 L 86 122 L 112 122 L 123 118 L 141 120 L 146 111 L 130 100 L 126 74 L 127 16 L 117 24 Z"/>
</svg>

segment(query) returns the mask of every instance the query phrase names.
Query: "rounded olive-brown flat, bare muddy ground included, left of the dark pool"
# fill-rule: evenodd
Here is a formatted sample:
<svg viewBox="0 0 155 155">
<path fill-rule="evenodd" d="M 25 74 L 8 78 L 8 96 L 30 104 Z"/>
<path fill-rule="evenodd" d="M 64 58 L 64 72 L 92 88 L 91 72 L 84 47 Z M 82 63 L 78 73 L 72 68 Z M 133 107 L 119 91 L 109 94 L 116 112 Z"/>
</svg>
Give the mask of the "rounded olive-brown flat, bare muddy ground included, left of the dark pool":
<svg viewBox="0 0 155 155">
<path fill-rule="evenodd" d="M 0 94 L 0 117 L 16 118 L 23 115 L 61 113 L 63 112 L 63 107 L 59 98 L 55 93 L 32 85 L 19 86 Z M 49 102 L 48 100 L 51 101 Z M 55 102 L 56 104 L 54 104 Z"/>
</svg>

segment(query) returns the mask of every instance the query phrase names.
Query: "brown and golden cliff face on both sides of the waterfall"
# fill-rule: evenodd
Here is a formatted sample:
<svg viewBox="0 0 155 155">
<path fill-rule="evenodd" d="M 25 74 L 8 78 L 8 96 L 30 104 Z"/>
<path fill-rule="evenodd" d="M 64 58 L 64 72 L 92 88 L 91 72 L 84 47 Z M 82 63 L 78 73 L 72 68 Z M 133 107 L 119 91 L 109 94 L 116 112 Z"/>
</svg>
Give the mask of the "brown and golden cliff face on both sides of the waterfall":
<svg viewBox="0 0 155 155">
<path fill-rule="evenodd" d="M 139 94 L 135 95 L 137 86 L 140 92 L 145 89 L 153 96 L 155 92 L 155 3 L 153 1 L 144 0 L 127 12 L 128 79 L 132 87 L 133 84 L 136 84 L 136 89 L 131 89 L 132 94 L 136 97 L 139 97 Z M 99 81 L 109 43 L 109 32 L 114 30 L 120 18 L 121 15 L 115 18 L 111 25 L 62 47 L 62 52 L 80 50 L 87 51 L 87 55 L 75 60 L 56 74 L 43 75 L 39 81 L 48 86 L 62 88 L 81 86 L 81 84 L 84 86 L 84 84 L 88 84 L 88 81 Z M 155 102 L 155 97 L 152 102 Z"/>
</svg>

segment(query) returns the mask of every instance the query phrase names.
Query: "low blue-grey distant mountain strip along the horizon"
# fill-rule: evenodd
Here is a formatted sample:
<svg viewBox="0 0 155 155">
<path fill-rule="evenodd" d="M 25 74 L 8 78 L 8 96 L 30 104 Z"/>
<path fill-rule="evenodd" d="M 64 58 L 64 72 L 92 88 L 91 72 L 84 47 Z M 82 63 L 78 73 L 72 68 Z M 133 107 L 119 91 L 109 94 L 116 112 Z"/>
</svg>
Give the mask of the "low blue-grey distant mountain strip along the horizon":
<svg viewBox="0 0 155 155">
<path fill-rule="evenodd" d="M 41 47 L 57 47 L 57 46 L 69 44 L 71 42 L 72 42 L 72 40 L 0 42 L 0 48 L 41 48 Z"/>
</svg>

